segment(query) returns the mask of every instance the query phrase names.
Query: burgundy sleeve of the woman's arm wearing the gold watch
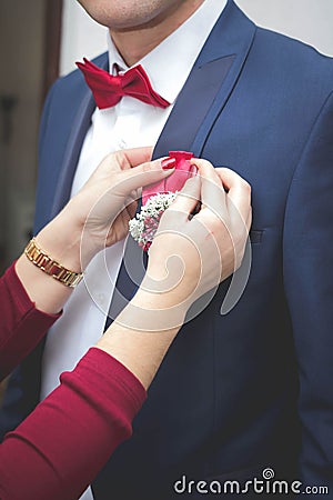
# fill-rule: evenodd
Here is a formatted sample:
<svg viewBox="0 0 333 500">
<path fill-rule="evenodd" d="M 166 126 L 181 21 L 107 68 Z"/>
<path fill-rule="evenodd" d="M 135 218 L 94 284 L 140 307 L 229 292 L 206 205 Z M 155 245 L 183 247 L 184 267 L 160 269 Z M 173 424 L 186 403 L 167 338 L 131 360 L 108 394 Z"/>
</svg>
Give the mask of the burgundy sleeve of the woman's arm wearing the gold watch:
<svg viewBox="0 0 333 500">
<path fill-rule="evenodd" d="M 0 278 L 0 381 L 38 344 L 61 314 L 36 309 L 14 263 Z"/>
</svg>

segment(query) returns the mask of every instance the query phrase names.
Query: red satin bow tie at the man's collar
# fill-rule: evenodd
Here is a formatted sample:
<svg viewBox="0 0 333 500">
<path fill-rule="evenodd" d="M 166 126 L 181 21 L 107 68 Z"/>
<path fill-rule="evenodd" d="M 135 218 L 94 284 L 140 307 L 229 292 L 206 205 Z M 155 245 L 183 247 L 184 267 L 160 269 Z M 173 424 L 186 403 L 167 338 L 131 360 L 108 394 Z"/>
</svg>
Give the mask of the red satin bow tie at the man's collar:
<svg viewBox="0 0 333 500">
<path fill-rule="evenodd" d="M 113 77 L 85 58 L 83 61 L 84 63 L 77 62 L 77 66 L 82 71 L 100 109 L 115 106 L 123 96 L 131 96 L 158 108 L 170 106 L 170 102 L 153 90 L 141 64 L 129 69 L 124 74 Z"/>
</svg>

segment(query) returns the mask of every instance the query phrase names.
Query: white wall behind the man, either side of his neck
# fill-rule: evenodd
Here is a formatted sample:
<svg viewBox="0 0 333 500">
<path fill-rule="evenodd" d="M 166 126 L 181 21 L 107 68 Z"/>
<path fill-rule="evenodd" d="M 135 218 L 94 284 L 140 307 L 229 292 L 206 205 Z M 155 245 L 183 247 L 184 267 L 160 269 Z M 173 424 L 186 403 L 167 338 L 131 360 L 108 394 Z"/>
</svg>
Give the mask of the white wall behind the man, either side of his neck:
<svg viewBox="0 0 333 500">
<path fill-rule="evenodd" d="M 333 0 L 236 0 L 236 3 L 256 24 L 302 40 L 333 57 Z M 105 28 L 90 19 L 75 0 L 64 0 L 62 28 L 61 74 L 74 69 L 82 57 L 92 58 L 107 49 Z"/>
</svg>

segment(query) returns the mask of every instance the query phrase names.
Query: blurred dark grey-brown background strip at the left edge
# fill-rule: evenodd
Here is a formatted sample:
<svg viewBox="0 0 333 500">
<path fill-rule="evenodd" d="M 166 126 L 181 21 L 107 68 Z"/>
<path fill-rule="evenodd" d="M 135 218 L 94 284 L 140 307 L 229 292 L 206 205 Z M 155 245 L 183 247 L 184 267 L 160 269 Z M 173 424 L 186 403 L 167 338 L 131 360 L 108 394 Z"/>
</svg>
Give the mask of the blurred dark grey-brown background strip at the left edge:
<svg viewBox="0 0 333 500">
<path fill-rule="evenodd" d="M 20 254 L 31 229 L 36 139 L 43 79 L 44 18 L 44 0 L 0 0 L 0 94 L 13 96 L 17 100 L 10 120 L 12 133 L 8 141 L 0 138 L 2 269 Z M 1 126 L 8 129 L 7 123 Z"/>
</svg>

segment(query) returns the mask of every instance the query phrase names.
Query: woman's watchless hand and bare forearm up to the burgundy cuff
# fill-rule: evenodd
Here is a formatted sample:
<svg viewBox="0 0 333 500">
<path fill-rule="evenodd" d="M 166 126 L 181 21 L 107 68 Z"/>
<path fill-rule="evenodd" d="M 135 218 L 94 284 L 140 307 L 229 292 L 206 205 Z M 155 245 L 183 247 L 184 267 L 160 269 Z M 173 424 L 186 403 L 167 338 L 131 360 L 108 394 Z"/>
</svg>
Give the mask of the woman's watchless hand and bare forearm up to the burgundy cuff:
<svg viewBox="0 0 333 500">
<path fill-rule="evenodd" d="M 240 267 L 251 226 L 248 182 L 231 170 L 213 169 L 208 161 L 193 163 L 200 176 L 186 182 L 164 212 L 140 289 L 97 346 L 128 367 L 145 388 L 188 309 Z M 191 317 L 205 304 L 192 308 Z"/>
</svg>

